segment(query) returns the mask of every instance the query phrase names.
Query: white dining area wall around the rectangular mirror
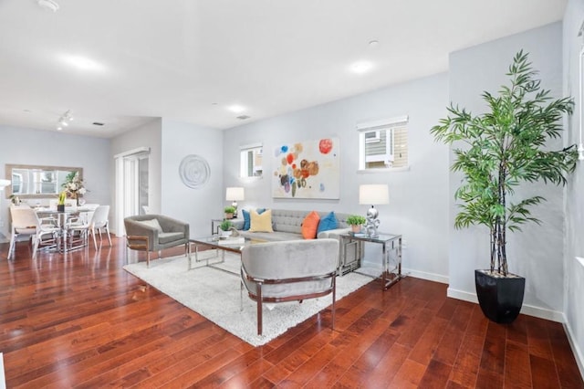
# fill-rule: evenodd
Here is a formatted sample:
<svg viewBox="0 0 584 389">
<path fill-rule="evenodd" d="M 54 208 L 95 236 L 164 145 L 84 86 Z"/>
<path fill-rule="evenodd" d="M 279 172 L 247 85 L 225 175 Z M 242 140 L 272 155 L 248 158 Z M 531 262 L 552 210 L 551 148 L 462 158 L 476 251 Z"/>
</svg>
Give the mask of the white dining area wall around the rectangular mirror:
<svg viewBox="0 0 584 389">
<path fill-rule="evenodd" d="M 109 139 L 7 126 L 0 126 L 0 132 L 0 177 L 5 176 L 6 163 L 82 167 L 89 190 L 84 195 L 87 202 L 110 204 Z M 0 231 L 8 237 L 10 202 L 4 192 L 2 196 L 0 219 L 5 226 L 0 227 Z"/>
</svg>

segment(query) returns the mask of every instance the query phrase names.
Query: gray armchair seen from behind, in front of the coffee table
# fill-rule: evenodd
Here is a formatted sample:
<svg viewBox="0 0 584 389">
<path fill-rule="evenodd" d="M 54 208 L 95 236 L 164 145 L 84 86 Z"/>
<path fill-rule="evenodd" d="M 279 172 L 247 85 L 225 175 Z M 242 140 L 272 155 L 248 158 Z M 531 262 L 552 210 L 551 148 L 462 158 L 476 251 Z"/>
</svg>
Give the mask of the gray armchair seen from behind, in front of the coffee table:
<svg viewBox="0 0 584 389">
<path fill-rule="evenodd" d="M 244 247 L 242 290 L 257 302 L 257 334 L 262 334 L 262 303 L 313 299 L 332 293 L 335 325 L 335 277 L 339 241 L 332 238 L 287 240 Z"/>
</svg>

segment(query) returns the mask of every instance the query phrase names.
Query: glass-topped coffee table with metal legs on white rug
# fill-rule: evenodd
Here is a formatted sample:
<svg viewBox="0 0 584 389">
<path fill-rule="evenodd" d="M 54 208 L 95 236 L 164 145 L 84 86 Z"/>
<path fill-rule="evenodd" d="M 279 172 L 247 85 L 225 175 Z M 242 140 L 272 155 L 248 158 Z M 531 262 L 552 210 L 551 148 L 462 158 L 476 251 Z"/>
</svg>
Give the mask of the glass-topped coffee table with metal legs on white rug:
<svg viewBox="0 0 584 389">
<path fill-rule="evenodd" d="M 195 237 L 194 239 L 189 239 L 188 269 L 189 270 L 193 269 L 193 260 L 195 264 L 204 262 L 205 263 L 204 266 L 216 268 L 215 265 L 224 263 L 225 252 L 232 252 L 241 255 L 241 251 L 245 246 L 256 245 L 266 242 L 267 240 L 248 237 L 220 238 L 218 235 L 210 237 Z M 204 258 L 200 258 L 201 253 L 203 252 L 208 253 L 211 250 L 215 251 L 214 257 L 204 256 Z M 226 270 L 224 268 L 217 269 L 235 274 L 234 272 Z M 236 275 L 239 276 L 239 273 L 236 273 Z"/>
</svg>

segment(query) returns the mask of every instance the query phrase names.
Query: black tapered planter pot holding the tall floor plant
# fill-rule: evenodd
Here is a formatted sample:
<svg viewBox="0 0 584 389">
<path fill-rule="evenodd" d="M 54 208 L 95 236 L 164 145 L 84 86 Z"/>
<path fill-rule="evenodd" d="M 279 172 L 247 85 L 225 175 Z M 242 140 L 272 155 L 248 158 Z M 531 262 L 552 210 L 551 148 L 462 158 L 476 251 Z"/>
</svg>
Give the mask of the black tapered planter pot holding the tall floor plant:
<svg viewBox="0 0 584 389">
<path fill-rule="evenodd" d="M 510 323 L 515 321 L 523 305 L 526 279 L 516 275 L 499 278 L 474 270 L 474 285 L 481 310 L 490 321 Z"/>
</svg>

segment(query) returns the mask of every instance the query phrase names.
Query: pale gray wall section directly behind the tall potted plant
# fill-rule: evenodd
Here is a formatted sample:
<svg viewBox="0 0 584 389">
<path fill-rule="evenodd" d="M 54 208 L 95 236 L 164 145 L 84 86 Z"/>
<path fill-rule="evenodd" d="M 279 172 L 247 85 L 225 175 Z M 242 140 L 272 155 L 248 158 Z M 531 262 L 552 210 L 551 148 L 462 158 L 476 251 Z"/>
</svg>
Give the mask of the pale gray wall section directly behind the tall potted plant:
<svg viewBox="0 0 584 389">
<path fill-rule="evenodd" d="M 506 71 L 520 49 L 539 71 L 542 86 L 561 96 L 562 26 L 556 23 L 525 33 L 498 39 L 484 45 L 454 52 L 450 56 L 450 98 L 474 113 L 485 110 L 480 98 L 483 90 L 493 93 L 506 84 Z M 550 144 L 558 149 L 562 140 Z M 452 159 L 452 154 L 451 154 Z M 488 268 L 489 237 L 483 226 L 454 230 L 454 190 L 460 176 L 450 176 L 450 287 L 449 296 L 476 300 L 474 269 Z M 524 226 L 523 232 L 507 235 L 509 270 L 526 277 L 526 294 L 522 311 L 561 321 L 563 310 L 564 269 L 564 189 L 553 185 L 523 185 L 517 196 L 543 195 L 547 202 L 534 208 L 542 221 Z"/>
</svg>

